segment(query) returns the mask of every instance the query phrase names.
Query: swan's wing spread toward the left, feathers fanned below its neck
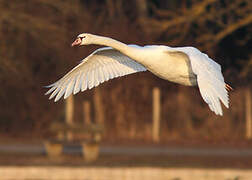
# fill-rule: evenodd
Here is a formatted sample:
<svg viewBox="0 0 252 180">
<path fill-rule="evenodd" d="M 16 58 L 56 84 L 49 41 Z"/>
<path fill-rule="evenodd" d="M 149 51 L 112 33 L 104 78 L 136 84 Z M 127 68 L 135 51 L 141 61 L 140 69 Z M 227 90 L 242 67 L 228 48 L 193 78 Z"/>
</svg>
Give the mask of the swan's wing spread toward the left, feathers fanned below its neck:
<svg viewBox="0 0 252 180">
<path fill-rule="evenodd" d="M 146 71 L 146 68 L 119 51 L 110 48 L 100 48 L 86 57 L 79 65 L 68 72 L 57 82 L 47 86 L 50 89 L 49 99 L 58 101 L 63 95 L 85 91 L 98 86 L 100 83 L 120 76 Z"/>
</svg>

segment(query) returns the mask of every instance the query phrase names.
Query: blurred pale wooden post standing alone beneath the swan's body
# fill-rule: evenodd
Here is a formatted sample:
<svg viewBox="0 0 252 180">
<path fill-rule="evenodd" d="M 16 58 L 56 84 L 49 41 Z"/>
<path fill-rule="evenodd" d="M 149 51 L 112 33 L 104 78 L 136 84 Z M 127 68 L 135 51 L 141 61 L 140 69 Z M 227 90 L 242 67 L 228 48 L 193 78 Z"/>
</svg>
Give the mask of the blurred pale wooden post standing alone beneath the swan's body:
<svg viewBox="0 0 252 180">
<path fill-rule="evenodd" d="M 160 139 L 160 89 L 155 87 L 153 89 L 153 114 L 152 114 L 152 140 L 159 142 Z"/>
</svg>

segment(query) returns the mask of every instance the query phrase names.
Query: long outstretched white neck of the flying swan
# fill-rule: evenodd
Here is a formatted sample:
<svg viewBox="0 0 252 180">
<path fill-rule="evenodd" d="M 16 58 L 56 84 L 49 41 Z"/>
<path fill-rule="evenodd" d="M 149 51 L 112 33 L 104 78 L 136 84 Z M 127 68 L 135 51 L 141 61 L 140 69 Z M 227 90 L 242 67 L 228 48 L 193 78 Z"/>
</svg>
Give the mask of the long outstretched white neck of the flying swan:
<svg viewBox="0 0 252 180">
<path fill-rule="evenodd" d="M 138 59 L 137 54 L 139 52 L 138 52 L 137 48 L 128 46 L 127 44 L 124 44 L 124 43 L 117 41 L 115 39 L 108 38 L 108 37 L 102 37 L 102 36 L 96 36 L 94 38 L 93 44 L 112 47 L 112 48 L 120 51 L 122 54 L 130 57 L 131 59 L 134 59 L 136 61 Z"/>
</svg>

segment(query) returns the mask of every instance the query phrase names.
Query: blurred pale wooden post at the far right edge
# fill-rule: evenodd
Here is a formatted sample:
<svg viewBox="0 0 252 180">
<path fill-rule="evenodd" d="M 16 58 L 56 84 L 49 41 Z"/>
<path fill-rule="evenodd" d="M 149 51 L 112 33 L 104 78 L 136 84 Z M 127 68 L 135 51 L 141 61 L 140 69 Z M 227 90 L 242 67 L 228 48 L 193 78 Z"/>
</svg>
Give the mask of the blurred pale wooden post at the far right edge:
<svg viewBox="0 0 252 180">
<path fill-rule="evenodd" d="M 246 113 L 246 137 L 251 139 L 252 137 L 252 103 L 251 103 L 251 91 L 250 88 L 246 89 L 245 93 L 245 113 Z"/>
</svg>

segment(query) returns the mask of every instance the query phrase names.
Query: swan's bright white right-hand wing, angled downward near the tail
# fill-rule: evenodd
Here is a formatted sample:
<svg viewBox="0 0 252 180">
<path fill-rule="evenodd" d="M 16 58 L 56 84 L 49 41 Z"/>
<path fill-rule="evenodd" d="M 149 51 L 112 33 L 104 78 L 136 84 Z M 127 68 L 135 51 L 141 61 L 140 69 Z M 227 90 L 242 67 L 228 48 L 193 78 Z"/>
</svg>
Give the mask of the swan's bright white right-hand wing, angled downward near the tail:
<svg viewBox="0 0 252 180">
<path fill-rule="evenodd" d="M 215 114 L 222 115 L 220 101 L 228 108 L 229 100 L 221 66 L 196 48 L 188 48 L 185 52 L 197 75 L 201 96 Z"/>
</svg>

